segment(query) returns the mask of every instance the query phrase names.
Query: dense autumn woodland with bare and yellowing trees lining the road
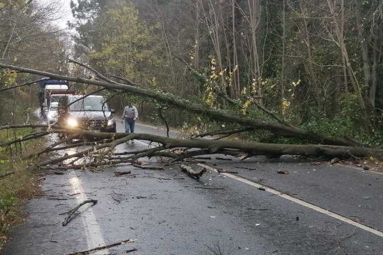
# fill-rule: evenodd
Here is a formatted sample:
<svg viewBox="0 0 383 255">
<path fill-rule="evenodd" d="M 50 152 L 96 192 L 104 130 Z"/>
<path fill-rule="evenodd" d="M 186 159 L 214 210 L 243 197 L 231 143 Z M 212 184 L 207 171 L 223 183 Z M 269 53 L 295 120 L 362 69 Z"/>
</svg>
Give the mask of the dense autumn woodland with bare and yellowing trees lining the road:
<svg viewBox="0 0 383 255">
<path fill-rule="evenodd" d="M 382 144 L 382 0 L 79 0 L 71 3 L 75 21 L 68 24 L 77 31 L 73 43 L 50 25 L 58 5 L 18 2 L 0 9 L 3 63 L 96 79 L 69 64 L 70 56 L 114 81 L 134 81 L 208 109 Z M 39 77 L 3 71 L 0 89 L 33 79 Z M 34 89 L 0 93 L 3 124 L 16 123 L 9 115 L 16 111 L 25 122 Z M 133 100 L 141 119 L 162 121 L 162 114 L 188 132 L 222 124 L 154 99 L 103 93 L 113 97 L 113 108 Z M 302 142 L 246 134 L 255 141 Z"/>
</svg>

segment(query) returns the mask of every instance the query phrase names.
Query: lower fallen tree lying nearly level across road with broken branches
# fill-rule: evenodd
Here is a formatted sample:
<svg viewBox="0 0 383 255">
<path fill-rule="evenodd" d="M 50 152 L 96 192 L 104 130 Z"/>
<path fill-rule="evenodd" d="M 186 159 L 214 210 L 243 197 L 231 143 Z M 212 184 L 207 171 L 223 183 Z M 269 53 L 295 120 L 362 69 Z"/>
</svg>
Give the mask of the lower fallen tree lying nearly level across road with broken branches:
<svg viewBox="0 0 383 255">
<path fill-rule="evenodd" d="M 21 126 L 20 126 L 21 127 Z M 0 127 L 1 128 L 1 127 Z M 68 147 L 87 146 L 75 154 L 49 159 L 38 164 L 39 167 L 50 166 L 63 162 L 68 159 L 75 159 L 72 163 L 60 165 L 63 169 L 80 169 L 86 167 L 110 166 L 114 164 L 135 164 L 140 158 L 161 157 L 167 158 L 171 162 L 182 162 L 186 159 L 193 159 L 197 156 L 223 154 L 234 157 L 240 157 L 241 160 L 255 156 L 266 156 L 268 158 L 278 158 L 283 155 L 300 156 L 321 156 L 327 158 L 364 158 L 373 156 L 376 159 L 383 159 L 383 148 L 365 148 L 353 146 L 320 145 L 320 144 L 272 144 L 232 140 L 208 140 L 208 139 L 176 139 L 151 134 L 139 133 L 93 133 L 91 131 L 70 129 L 65 130 L 60 126 L 51 125 L 51 133 L 66 133 L 70 137 L 97 137 L 97 142 L 79 142 L 73 145 L 57 147 L 61 142 L 56 142 L 44 149 L 42 152 L 59 151 Z M 27 136 L 29 137 L 29 136 Z M 129 140 L 142 140 L 150 143 L 158 143 L 158 146 L 149 146 L 148 149 L 139 151 L 125 151 L 116 153 L 114 149 L 117 145 Z M 6 144 L 24 141 L 24 138 L 18 138 L 14 141 L 8 141 Z M 84 159 L 79 164 L 74 164 L 79 159 Z M 140 168 L 145 168 L 140 166 Z M 153 168 L 153 167 L 150 167 Z"/>
</svg>

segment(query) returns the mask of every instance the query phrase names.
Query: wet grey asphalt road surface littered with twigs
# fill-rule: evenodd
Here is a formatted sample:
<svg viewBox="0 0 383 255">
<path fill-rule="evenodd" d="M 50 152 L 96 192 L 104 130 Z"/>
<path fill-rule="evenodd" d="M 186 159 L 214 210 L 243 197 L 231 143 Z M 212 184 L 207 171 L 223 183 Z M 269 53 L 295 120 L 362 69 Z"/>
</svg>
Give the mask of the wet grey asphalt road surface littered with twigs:
<svg viewBox="0 0 383 255">
<path fill-rule="evenodd" d="M 140 124 L 136 132 L 165 134 Z M 136 141 L 117 150 L 147 146 Z M 29 216 L 5 254 L 66 254 L 125 239 L 134 242 L 93 254 L 383 254 L 382 174 L 292 158 L 212 158 L 199 181 L 176 165 L 46 175 L 43 196 L 25 203 Z M 137 175 L 113 174 L 126 170 Z M 59 214 L 87 198 L 99 202 L 62 226 Z"/>
</svg>

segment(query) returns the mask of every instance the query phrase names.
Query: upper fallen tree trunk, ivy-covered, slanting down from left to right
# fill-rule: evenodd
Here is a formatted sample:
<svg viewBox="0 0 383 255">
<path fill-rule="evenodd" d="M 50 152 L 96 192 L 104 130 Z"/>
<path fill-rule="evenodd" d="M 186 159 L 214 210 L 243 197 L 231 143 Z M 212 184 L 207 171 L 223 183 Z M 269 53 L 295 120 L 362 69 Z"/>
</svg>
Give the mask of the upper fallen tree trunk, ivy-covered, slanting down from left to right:
<svg viewBox="0 0 383 255">
<path fill-rule="evenodd" d="M 92 85 L 101 86 L 107 89 L 123 90 L 134 95 L 150 97 L 158 101 L 161 101 L 162 103 L 166 103 L 166 104 L 169 104 L 181 109 L 185 109 L 194 113 L 205 114 L 219 121 L 238 123 L 244 126 L 252 127 L 253 129 L 267 130 L 267 131 L 273 132 L 275 134 L 283 135 L 283 136 L 300 137 L 308 141 L 315 141 L 320 144 L 363 146 L 363 144 L 361 144 L 360 142 L 354 141 L 353 139 L 346 138 L 346 137 L 324 136 L 321 134 L 300 129 L 293 125 L 287 125 L 287 124 L 283 124 L 279 122 L 272 122 L 270 120 L 262 119 L 262 118 L 258 118 L 254 116 L 238 115 L 238 114 L 228 113 L 225 111 L 210 109 L 207 106 L 192 103 L 187 99 L 182 99 L 169 93 L 163 93 L 163 92 L 153 91 L 150 89 L 145 89 L 143 88 L 144 86 L 133 83 L 129 80 L 124 80 L 125 84 L 117 83 L 110 80 L 109 78 L 106 78 L 104 75 L 102 75 L 101 73 L 99 73 L 98 71 L 94 70 L 91 67 L 88 67 L 83 64 L 82 66 L 85 66 L 91 71 L 95 72 L 98 75 L 98 77 L 102 79 L 102 81 L 93 81 L 93 80 L 79 78 L 79 77 L 69 77 L 66 75 L 59 75 L 55 73 L 44 72 L 44 71 L 0 63 L 0 68 L 8 68 L 8 69 L 16 70 L 19 72 L 42 75 L 43 77 L 49 77 L 49 78 L 58 79 L 58 80 L 92 84 Z"/>
</svg>

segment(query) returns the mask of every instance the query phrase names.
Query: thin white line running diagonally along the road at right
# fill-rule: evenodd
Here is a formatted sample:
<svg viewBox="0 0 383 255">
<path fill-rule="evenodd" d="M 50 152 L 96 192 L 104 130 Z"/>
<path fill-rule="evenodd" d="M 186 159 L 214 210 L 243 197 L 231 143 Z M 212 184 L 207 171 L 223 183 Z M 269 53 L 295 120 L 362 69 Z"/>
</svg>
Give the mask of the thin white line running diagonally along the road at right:
<svg viewBox="0 0 383 255">
<path fill-rule="evenodd" d="M 218 170 L 215 169 L 215 168 L 213 168 L 213 167 L 210 167 L 210 166 L 207 166 L 207 165 L 204 165 L 204 164 L 198 164 L 198 165 L 199 165 L 199 166 L 202 166 L 202 167 L 205 167 L 206 169 L 209 169 L 209 170 L 218 172 Z M 253 186 L 253 187 L 256 187 L 256 188 L 264 187 L 265 190 L 266 190 L 267 192 L 270 192 L 270 193 L 272 193 L 272 194 L 274 194 L 274 195 L 283 197 L 283 198 L 285 198 L 285 199 L 288 199 L 288 200 L 290 200 L 290 201 L 293 201 L 293 202 L 295 202 L 295 203 L 298 203 L 298 204 L 301 205 L 301 206 L 304 206 L 304 207 L 313 209 L 313 210 L 315 210 L 315 211 L 317 211 L 317 212 L 323 213 L 323 214 L 328 215 L 328 216 L 330 216 L 330 217 L 332 217 L 332 218 L 336 218 L 336 219 L 338 219 L 338 220 L 341 220 L 341 221 L 343 221 L 343 222 L 346 222 L 346 223 L 348 223 L 348 224 L 351 224 L 351 225 L 353 225 L 353 226 L 355 226 L 355 227 L 361 228 L 362 230 L 365 230 L 365 231 L 368 231 L 368 232 L 370 232 L 370 233 L 373 233 L 373 234 L 375 234 L 375 235 L 377 235 L 377 236 L 383 237 L 383 232 L 380 232 L 380 231 L 378 231 L 378 230 L 375 230 L 375 229 L 372 228 L 372 227 L 369 227 L 369 226 L 363 225 L 363 224 L 361 224 L 361 223 L 358 223 L 358 222 L 356 222 L 356 221 L 353 221 L 353 220 L 350 220 L 350 219 L 348 219 L 348 218 L 345 218 L 345 217 L 343 217 L 342 215 L 339 215 L 339 214 L 330 212 L 330 211 L 328 211 L 328 210 L 326 210 L 326 209 L 323 209 L 323 208 L 320 208 L 320 207 L 318 207 L 318 206 L 315 206 L 315 205 L 313 205 L 312 203 L 305 202 L 305 201 L 300 200 L 300 199 L 298 199 L 298 198 L 296 198 L 296 197 L 293 197 L 293 196 L 290 196 L 290 195 L 281 193 L 281 192 L 279 192 L 279 191 L 277 191 L 277 190 L 274 190 L 274 189 L 272 189 L 272 188 L 269 188 L 269 187 L 262 186 L 262 185 L 260 185 L 260 184 L 258 184 L 258 183 L 255 183 L 255 182 L 251 181 L 251 180 L 245 179 L 245 178 L 243 178 L 243 177 L 240 177 L 240 176 L 237 176 L 237 175 L 234 175 L 234 174 L 231 174 L 231 173 L 220 173 L 220 174 L 225 175 L 225 176 L 228 176 L 228 177 L 230 177 L 230 178 L 232 178 L 232 179 L 234 179 L 234 180 L 237 180 L 237 181 L 240 181 L 240 182 L 249 184 L 249 185 L 251 185 L 251 186 Z"/>
</svg>

